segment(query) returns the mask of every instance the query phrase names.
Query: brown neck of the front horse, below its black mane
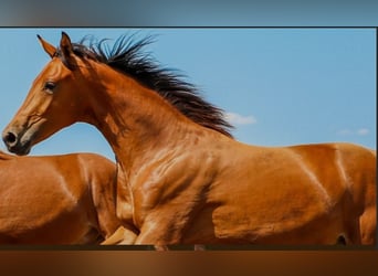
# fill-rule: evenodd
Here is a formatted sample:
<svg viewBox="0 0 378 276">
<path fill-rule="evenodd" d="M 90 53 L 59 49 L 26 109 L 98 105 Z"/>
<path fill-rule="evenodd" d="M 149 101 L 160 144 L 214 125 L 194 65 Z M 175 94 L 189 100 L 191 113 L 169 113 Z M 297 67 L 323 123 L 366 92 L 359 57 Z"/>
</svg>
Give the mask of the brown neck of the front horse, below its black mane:
<svg viewBox="0 0 378 276">
<path fill-rule="evenodd" d="M 88 123 L 105 136 L 124 168 L 138 160 L 140 166 L 156 151 L 175 147 L 189 128 L 199 127 L 156 92 L 104 64 L 97 66 L 101 83 L 88 85 L 93 115 Z"/>
</svg>

